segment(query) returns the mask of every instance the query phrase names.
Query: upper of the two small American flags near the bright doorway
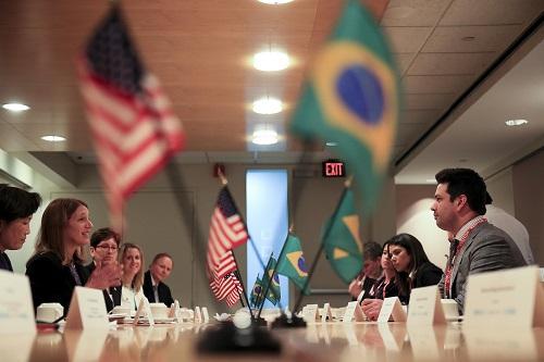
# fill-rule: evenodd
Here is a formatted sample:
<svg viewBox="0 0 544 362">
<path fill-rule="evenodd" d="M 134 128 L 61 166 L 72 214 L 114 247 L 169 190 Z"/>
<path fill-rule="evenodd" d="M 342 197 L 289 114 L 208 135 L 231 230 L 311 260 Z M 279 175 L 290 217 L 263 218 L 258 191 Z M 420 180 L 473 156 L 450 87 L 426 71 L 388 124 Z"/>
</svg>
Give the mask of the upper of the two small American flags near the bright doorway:
<svg viewBox="0 0 544 362">
<path fill-rule="evenodd" d="M 213 210 L 208 236 L 208 270 L 210 279 L 223 277 L 236 269 L 232 249 L 247 241 L 246 225 L 224 186 L 219 192 L 218 203 Z"/>
</svg>

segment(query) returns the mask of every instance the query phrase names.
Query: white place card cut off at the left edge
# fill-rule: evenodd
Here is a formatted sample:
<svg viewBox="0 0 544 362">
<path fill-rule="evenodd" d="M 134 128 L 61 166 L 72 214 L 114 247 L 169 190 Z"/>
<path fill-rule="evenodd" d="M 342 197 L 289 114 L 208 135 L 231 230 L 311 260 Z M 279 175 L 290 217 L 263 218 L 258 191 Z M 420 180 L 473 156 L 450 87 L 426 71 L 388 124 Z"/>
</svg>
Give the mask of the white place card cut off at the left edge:
<svg viewBox="0 0 544 362">
<path fill-rule="evenodd" d="M 30 284 L 26 275 L 0 271 L 0 335 L 20 332 L 36 333 Z"/>
</svg>

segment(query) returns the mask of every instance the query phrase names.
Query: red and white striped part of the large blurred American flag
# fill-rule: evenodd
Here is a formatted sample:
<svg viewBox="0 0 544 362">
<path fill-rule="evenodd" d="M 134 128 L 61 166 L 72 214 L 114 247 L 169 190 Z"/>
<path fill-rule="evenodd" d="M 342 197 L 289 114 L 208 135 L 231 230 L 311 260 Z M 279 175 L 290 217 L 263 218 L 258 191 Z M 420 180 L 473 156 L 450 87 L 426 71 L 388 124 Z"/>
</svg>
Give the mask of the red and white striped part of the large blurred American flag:
<svg viewBox="0 0 544 362">
<path fill-rule="evenodd" d="M 122 93 L 81 63 L 100 173 L 108 190 L 112 226 L 121 229 L 124 201 L 163 167 L 184 143 L 184 130 L 159 82 L 143 79 L 143 97 Z"/>
</svg>

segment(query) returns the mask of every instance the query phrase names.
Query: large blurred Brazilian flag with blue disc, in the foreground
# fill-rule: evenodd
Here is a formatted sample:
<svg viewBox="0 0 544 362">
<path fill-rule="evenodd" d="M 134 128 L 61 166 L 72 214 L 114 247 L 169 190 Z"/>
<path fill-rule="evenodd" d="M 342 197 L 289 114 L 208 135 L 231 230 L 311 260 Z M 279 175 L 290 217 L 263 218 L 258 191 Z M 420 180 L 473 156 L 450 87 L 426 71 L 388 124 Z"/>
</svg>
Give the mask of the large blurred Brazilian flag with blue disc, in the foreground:
<svg viewBox="0 0 544 362">
<path fill-rule="evenodd" d="M 304 139 L 334 141 L 370 212 L 395 141 L 400 82 L 372 15 L 348 0 L 318 52 L 290 123 Z"/>
</svg>

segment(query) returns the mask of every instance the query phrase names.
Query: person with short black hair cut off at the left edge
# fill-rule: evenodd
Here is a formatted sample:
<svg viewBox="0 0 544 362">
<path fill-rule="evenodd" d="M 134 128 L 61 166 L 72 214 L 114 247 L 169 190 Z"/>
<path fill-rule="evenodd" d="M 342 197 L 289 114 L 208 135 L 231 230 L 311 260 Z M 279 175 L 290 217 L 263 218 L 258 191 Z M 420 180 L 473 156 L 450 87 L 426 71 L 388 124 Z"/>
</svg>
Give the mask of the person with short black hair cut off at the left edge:
<svg viewBox="0 0 544 362">
<path fill-rule="evenodd" d="M 40 203 L 41 197 L 36 192 L 0 184 L 0 270 L 13 272 L 5 250 L 23 247 Z"/>
</svg>

